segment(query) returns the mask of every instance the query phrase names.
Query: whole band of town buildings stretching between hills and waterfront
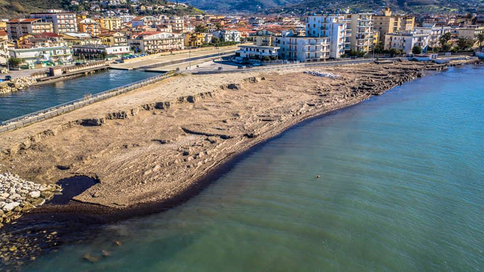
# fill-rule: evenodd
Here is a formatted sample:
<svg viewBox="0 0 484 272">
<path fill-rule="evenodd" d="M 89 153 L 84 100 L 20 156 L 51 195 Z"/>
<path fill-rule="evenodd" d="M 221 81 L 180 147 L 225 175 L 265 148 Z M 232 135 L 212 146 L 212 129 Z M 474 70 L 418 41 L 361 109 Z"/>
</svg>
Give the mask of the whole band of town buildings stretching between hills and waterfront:
<svg viewBox="0 0 484 272">
<path fill-rule="evenodd" d="M 92 52 L 112 60 L 236 44 L 244 44 L 235 53 L 239 59 L 308 62 L 457 52 L 477 49 L 484 43 L 482 14 L 398 14 L 390 8 L 378 13 L 322 10 L 303 17 L 139 16 L 123 9 L 90 16 L 88 12 L 46 10 L 2 23 L 0 64 L 9 69 L 72 64 Z"/>
</svg>

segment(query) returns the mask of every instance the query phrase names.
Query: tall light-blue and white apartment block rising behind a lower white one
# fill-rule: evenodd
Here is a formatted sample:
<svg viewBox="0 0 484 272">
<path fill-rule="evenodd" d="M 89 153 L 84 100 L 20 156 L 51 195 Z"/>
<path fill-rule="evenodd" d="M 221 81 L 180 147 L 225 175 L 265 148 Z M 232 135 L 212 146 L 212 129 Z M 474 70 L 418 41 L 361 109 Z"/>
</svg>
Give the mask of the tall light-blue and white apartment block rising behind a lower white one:
<svg viewBox="0 0 484 272">
<path fill-rule="evenodd" d="M 350 33 L 347 30 L 347 21 L 340 15 L 319 15 L 306 18 L 306 36 L 326 37 L 330 40 L 330 57 L 339 58 L 344 54 L 346 38 Z"/>
</svg>

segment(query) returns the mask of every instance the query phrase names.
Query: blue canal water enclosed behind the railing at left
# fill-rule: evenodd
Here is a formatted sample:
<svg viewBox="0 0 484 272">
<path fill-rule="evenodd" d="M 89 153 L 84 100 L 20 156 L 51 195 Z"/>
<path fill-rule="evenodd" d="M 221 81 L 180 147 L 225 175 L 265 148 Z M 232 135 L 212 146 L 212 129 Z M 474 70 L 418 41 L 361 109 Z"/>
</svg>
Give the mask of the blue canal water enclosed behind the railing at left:
<svg viewBox="0 0 484 272">
<path fill-rule="evenodd" d="M 108 70 L 3 94 L 0 95 L 0 122 L 156 75 L 142 71 Z"/>
</svg>

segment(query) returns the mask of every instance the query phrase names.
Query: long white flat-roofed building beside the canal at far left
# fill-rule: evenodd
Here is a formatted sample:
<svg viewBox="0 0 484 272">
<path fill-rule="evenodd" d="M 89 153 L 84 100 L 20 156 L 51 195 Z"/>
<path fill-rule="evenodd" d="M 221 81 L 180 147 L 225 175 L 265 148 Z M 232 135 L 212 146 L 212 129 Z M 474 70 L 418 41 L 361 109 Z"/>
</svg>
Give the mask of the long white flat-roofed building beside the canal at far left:
<svg viewBox="0 0 484 272">
<path fill-rule="evenodd" d="M 10 57 L 21 58 L 29 69 L 47 64 L 63 65 L 72 63 L 70 47 L 36 47 L 29 49 L 11 49 Z"/>
</svg>

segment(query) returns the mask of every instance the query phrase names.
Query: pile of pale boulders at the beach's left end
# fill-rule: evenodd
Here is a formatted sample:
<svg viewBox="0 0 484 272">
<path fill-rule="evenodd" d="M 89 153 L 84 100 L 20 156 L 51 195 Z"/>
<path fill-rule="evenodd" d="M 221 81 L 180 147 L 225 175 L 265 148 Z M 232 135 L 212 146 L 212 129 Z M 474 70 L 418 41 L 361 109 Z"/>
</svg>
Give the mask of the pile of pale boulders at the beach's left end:
<svg viewBox="0 0 484 272">
<path fill-rule="evenodd" d="M 37 184 L 12 173 L 0 174 L 0 227 L 43 205 L 62 191 L 56 184 Z"/>
</svg>

